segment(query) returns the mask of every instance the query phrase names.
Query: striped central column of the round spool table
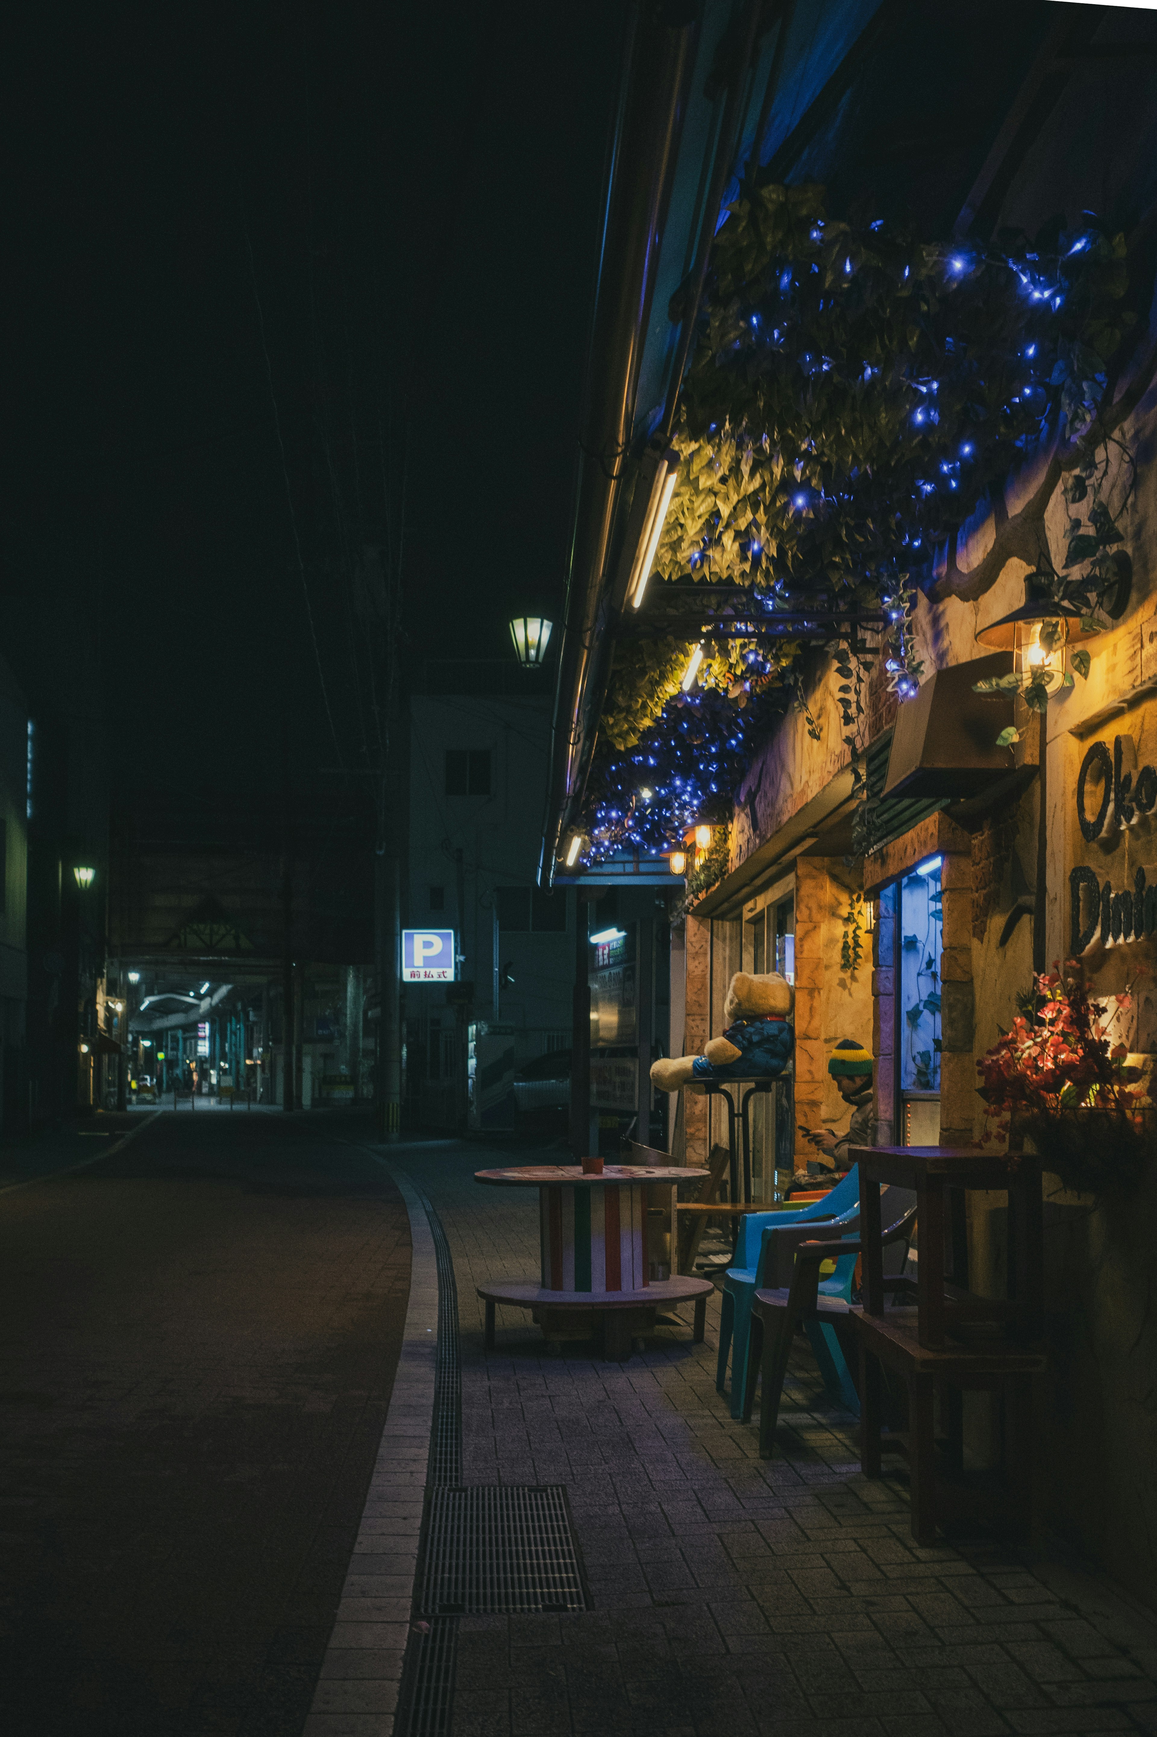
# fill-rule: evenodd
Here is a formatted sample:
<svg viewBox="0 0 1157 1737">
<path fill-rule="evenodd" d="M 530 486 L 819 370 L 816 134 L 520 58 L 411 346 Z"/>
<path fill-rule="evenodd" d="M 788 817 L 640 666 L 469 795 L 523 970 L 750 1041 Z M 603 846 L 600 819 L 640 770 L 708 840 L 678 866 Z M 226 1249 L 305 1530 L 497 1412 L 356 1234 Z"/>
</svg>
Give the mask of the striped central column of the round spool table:
<svg viewBox="0 0 1157 1737">
<path fill-rule="evenodd" d="M 554 1185 L 539 1190 L 542 1289 L 643 1291 L 646 1188 Z"/>
</svg>

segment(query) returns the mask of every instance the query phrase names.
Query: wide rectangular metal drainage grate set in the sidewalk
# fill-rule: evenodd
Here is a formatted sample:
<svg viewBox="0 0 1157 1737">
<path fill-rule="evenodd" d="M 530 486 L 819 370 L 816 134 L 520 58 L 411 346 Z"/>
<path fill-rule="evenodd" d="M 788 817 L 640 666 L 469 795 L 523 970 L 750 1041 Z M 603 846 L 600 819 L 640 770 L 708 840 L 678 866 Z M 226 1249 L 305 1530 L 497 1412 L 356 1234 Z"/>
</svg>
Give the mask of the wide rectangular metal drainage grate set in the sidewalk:
<svg viewBox="0 0 1157 1737">
<path fill-rule="evenodd" d="M 561 1483 L 431 1489 L 424 1541 L 424 1617 L 591 1608 Z"/>
</svg>

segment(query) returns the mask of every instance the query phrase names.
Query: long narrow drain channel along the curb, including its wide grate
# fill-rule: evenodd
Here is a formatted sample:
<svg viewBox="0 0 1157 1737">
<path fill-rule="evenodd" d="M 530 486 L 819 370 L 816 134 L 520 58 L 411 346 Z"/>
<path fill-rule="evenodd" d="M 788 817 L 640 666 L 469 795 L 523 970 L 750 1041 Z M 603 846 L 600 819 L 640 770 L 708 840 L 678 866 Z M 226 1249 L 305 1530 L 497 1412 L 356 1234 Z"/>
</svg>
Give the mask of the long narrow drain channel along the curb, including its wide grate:
<svg viewBox="0 0 1157 1737">
<path fill-rule="evenodd" d="M 434 1417 L 426 1511 L 401 1669 L 396 1737 L 450 1737 L 459 1621 L 464 1615 L 591 1608 L 561 1483 L 462 1483 L 462 1357 L 450 1244 L 422 1200 L 438 1270 Z"/>
</svg>

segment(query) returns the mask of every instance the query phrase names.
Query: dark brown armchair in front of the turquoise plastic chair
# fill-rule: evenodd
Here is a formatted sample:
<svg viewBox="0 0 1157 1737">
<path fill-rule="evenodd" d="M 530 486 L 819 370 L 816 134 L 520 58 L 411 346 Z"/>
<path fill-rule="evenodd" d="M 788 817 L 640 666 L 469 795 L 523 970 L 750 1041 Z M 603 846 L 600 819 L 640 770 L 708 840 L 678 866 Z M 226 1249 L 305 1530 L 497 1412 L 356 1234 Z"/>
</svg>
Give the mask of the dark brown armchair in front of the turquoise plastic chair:
<svg viewBox="0 0 1157 1737">
<path fill-rule="evenodd" d="M 912 1193 L 907 1188 L 889 1188 L 884 1199 L 896 1216 L 881 1233 L 881 1247 L 898 1242 L 907 1247 L 916 1223 Z M 759 1367 L 763 1377 L 759 1393 L 761 1459 L 771 1459 L 796 1327 L 804 1327 L 808 1332 L 829 1391 L 841 1398 L 850 1410 L 860 1409 L 844 1350 L 839 1344 L 839 1327 L 846 1325 L 850 1315 L 858 1313 L 858 1306 L 851 1301 L 851 1284 L 862 1249 L 860 1237 L 841 1237 L 839 1242 L 799 1242 L 790 1284 L 759 1289 L 752 1298 L 742 1417 L 744 1423 L 750 1421 L 756 1367 Z M 827 1280 L 820 1278 L 823 1261 L 836 1261 L 836 1271 Z M 907 1289 L 909 1280 L 896 1277 L 888 1284 L 891 1289 Z"/>
</svg>

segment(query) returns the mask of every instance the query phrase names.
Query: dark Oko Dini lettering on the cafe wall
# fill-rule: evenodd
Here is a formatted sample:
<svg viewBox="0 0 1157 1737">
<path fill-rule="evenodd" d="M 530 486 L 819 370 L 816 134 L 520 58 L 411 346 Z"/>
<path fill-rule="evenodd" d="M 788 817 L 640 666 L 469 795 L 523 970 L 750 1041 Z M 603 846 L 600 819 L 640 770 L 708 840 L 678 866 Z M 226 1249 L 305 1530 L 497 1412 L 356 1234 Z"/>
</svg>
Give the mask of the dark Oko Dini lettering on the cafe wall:
<svg viewBox="0 0 1157 1737">
<path fill-rule="evenodd" d="M 1094 813 L 1089 813 L 1091 780 L 1100 783 Z M 1086 842 L 1115 839 L 1154 809 L 1157 809 L 1157 768 L 1138 769 L 1133 736 L 1114 736 L 1112 752 L 1107 742 L 1094 742 L 1081 761 L 1077 775 L 1077 822 Z M 1157 884 L 1147 882 L 1143 868 L 1136 870 L 1133 888 L 1124 888 L 1121 893 L 1114 893 L 1110 881 L 1101 884 L 1096 870 L 1074 868 L 1068 875 L 1068 908 L 1074 957 L 1096 938 L 1108 947 L 1114 941 L 1140 941 L 1147 935 L 1157 935 Z"/>
</svg>

